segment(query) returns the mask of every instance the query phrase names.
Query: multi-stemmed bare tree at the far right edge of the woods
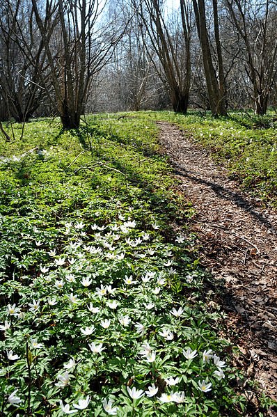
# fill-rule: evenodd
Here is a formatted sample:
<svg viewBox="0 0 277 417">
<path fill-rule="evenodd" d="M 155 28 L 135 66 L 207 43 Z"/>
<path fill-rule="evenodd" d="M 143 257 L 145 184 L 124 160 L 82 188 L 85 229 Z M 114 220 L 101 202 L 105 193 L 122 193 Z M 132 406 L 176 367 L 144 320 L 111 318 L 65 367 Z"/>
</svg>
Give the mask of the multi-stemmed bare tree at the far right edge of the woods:
<svg viewBox="0 0 277 417">
<path fill-rule="evenodd" d="M 226 3 L 244 42 L 243 59 L 255 113 L 264 114 L 277 77 L 276 1 L 226 0 Z"/>
</svg>

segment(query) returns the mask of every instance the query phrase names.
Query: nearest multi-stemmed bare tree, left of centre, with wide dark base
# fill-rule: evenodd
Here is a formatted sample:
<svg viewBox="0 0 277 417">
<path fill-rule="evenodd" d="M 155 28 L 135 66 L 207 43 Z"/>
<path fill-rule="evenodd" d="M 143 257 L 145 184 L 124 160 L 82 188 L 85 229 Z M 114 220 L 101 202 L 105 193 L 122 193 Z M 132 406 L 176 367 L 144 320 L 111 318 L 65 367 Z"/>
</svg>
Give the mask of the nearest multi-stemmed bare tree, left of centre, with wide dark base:
<svg viewBox="0 0 277 417">
<path fill-rule="evenodd" d="M 63 128 L 77 128 L 91 81 L 109 61 L 124 28 L 102 22 L 100 0 L 31 0 Z M 22 39 L 24 41 L 24 38 Z M 44 77 L 40 84 L 44 86 Z"/>
</svg>

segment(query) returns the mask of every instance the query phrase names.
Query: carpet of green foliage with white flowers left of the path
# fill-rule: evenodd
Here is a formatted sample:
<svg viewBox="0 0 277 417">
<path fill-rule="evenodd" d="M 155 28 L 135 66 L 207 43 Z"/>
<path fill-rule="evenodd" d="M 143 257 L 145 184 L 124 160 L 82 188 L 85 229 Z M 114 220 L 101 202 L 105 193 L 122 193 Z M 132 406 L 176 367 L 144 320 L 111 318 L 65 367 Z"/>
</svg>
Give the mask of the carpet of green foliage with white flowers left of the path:
<svg viewBox="0 0 277 417">
<path fill-rule="evenodd" d="M 155 124 L 25 129 L 1 139 L 1 415 L 245 414 Z"/>
</svg>

